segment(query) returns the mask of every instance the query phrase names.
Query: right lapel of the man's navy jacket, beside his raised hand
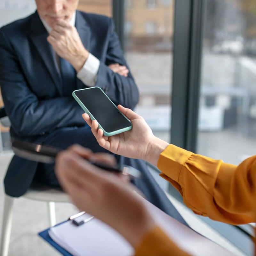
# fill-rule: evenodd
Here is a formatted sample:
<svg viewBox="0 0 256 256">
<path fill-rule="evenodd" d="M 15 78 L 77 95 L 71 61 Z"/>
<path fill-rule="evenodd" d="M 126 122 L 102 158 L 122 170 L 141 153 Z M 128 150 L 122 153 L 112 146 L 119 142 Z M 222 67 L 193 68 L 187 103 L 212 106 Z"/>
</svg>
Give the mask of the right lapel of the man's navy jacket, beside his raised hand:
<svg viewBox="0 0 256 256">
<path fill-rule="evenodd" d="M 76 23 L 75 23 L 76 30 L 81 38 L 81 41 L 85 47 L 85 49 L 90 52 L 90 37 L 91 37 L 91 30 L 86 23 L 83 14 L 79 11 L 76 11 Z M 76 87 L 77 89 L 83 89 L 85 87 L 84 83 L 76 78 Z"/>
</svg>

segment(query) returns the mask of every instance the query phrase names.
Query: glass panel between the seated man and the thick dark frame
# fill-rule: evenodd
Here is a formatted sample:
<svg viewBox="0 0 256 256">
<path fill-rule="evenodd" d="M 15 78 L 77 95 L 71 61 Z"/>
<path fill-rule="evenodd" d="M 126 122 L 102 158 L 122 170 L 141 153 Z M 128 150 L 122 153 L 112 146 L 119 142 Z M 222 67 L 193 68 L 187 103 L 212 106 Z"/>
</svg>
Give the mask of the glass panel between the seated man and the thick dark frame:
<svg viewBox="0 0 256 256">
<path fill-rule="evenodd" d="M 140 90 L 136 112 L 170 141 L 174 1 L 125 1 L 125 56 Z"/>
</svg>

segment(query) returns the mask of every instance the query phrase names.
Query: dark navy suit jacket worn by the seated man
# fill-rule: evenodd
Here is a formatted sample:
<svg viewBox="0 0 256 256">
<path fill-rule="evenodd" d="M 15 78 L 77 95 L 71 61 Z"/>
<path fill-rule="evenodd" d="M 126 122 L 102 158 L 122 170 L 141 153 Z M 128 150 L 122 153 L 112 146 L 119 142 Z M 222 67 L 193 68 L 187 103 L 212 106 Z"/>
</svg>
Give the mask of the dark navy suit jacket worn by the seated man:
<svg viewBox="0 0 256 256">
<path fill-rule="evenodd" d="M 76 11 L 75 26 L 84 47 L 100 60 L 96 86 L 115 104 L 134 108 L 139 93 L 131 73 L 124 77 L 107 67 L 127 66 L 113 20 Z M 83 110 L 71 96 L 62 96 L 61 76 L 47 36 L 37 12 L 0 29 L 0 86 L 11 136 L 37 143 L 56 129 L 84 126 Z M 76 80 L 77 89 L 87 87 Z M 14 156 L 4 180 L 6 194 L 23 195 L 37 164 Z"/>
</svg>

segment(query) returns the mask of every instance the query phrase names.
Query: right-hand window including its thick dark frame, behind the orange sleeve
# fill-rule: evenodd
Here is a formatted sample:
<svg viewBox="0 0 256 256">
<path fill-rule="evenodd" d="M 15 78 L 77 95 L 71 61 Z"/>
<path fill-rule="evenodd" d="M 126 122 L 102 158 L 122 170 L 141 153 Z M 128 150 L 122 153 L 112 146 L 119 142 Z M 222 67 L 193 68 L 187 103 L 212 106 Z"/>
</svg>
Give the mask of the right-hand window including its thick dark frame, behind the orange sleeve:
<svg viewBox="0 0 256 256">
<path fill-rule="evenodd" d="M 172 143 L 231 164 L 255 154 L 255 17 L 254 0 L 175 1 Z M 252 255 L 252 228 L 199 218 Z"/>
</svg>

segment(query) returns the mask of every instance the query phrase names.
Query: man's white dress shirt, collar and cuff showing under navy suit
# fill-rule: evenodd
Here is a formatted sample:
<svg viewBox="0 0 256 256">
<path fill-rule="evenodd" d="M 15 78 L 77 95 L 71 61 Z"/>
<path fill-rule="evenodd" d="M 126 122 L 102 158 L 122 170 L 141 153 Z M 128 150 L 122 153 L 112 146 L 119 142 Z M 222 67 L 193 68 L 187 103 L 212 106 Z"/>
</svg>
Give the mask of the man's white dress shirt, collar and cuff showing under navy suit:
<svg viewBox="0 0 256 256">
<path fill-rule="evenodd" d="M 40 15 L 39 15 L 40 17 Z M 47 32 L 50 34 L 52 31 L 52 28 L 40 17 L 45 29 L 47 30 Z M 75 26 L 75 22 L 76 22 L 76 12 L 74 12 L 74 14 L 72 15 L 69 23 L 71 26 Z M 54 51 L 54 49 L 53 49 Z M 60 68 L 60 59 L 58 54 L 54 51 L 54 55 L 55 58 L 57 60 L 58 66 Z M 99 67 L 100 67 L 100 60 L 98 60 L 95 56 L 93 56 L 90 52 L 89 52 L 89 56 L 87 58 L 87 60 L 84 63 L 84 66 L 82 67 L 82 69 L 77 73 L 77 78 L 79 78 L 85 85 L 87 86 L 95 86 L 96 81 L 97 81 L 97 74 L 99 71 Z"/>
</svg>

